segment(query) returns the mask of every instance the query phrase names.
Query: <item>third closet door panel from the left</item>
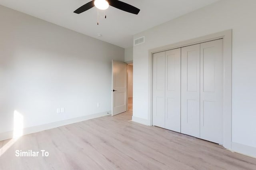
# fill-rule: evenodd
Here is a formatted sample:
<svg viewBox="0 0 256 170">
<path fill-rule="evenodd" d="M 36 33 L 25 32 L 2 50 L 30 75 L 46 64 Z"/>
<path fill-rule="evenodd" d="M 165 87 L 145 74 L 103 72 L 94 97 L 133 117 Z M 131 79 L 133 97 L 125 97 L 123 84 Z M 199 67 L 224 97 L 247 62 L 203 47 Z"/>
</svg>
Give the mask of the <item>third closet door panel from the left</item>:
<svg viewBox="0 0 256 170">
<path fill-rule="evenodd" d="M 200 44 L 181 49 L 181 132 L 200 137 Z"/>
</svg>

